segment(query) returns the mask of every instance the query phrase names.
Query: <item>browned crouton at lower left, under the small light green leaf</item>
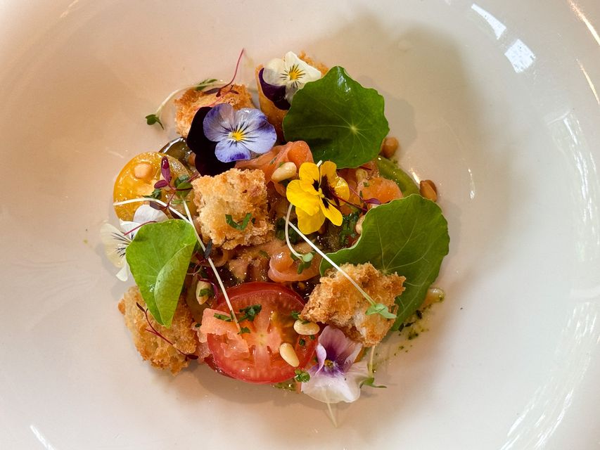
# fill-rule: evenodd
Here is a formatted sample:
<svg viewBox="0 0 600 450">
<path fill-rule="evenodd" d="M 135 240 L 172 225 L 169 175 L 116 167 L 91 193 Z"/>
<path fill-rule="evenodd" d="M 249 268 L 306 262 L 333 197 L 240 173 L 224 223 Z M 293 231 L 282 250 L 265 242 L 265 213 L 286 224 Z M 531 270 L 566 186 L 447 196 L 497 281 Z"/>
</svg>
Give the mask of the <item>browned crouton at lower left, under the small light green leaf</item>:
<svg viewBox="0 0 600 450">
<path fill-rule="evenodd" d="M 125 325 L 132 333 L 134 344 L 144 360 L 150 361 L 154 367 L 168 369 L 175 375 L 189 365 L 186 354 L 195 354 L 198 348 L 198 337 L 191 329 L 193 317 L 186 302 L 179 300 L 170 328 L 160 325 L 148 312 L 148 320 L 152 326 L 173 344 L 148 331 L 150 326 L 136 303 L 146 308 L 139 288 L 129 288 L 119 302 L 119 311 L 125 316 Z M 178 352 L 179 350 L 179 352 Z M 180 353 L 181 352 L 181 353 Z"/>
</svg>

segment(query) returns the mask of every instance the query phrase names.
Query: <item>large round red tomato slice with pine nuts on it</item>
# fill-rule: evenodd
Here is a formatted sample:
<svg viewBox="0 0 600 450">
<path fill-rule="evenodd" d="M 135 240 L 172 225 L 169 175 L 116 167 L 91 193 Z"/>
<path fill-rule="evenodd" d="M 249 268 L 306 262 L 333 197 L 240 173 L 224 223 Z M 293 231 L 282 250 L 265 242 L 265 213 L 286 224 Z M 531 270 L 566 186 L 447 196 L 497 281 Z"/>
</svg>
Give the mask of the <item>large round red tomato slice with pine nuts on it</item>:
<svg viewBox="0 0 600 450">
<path fill-rule="evenodd" d="M 215 317 L 219 313 L 229 315 L 224 298 L 216 309 L 205 309 L 201 330 L 207 335 L 208 349 L 220 371 L 248 383 L 279 383 L 293 378 L 297 368 L 309 363 L 317 336 L 311 339 L 298 335 L 291 315 L 304 307 L 300 295 L 276 283 L 243 283 L 228 289 L 227 294 L 236 313 L 255 304 L 260 304 L 261 310 L 254 321 L 240 322 L 250 333 L 239 335 L 233 322 Z M 283 342 L 293 345 L 298 367 L 290 366 L 279 355 Z"/>
</svg>

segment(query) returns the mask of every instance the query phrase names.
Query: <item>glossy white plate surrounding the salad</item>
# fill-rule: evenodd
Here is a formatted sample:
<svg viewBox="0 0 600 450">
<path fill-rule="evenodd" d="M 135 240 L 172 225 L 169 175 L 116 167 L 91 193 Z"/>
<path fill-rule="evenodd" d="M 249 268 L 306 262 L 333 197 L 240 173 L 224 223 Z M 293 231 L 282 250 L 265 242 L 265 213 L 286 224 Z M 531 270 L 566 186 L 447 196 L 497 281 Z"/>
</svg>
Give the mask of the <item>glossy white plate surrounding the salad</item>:
<svg viewBox="0 0 600 450">
<path fill-rule="evenodd" d="M 1 1 L 0 447 L 597 448 L 599 5 Z M 143 117 L 242 47 L 241 77 L 305 49 L 376 87 L 449 220 L 447 300 L 337 429 L 308 398 L 144 364 L 98 242 L 122 164 L 174 134 Z"/>
</svg>

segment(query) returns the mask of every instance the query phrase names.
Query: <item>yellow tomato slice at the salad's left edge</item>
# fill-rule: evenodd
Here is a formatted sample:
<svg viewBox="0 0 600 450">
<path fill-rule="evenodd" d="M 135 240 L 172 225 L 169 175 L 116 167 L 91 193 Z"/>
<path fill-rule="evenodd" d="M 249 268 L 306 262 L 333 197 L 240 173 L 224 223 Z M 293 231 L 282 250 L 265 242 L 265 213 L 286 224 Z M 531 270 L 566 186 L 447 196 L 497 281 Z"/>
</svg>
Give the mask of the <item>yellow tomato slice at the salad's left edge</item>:
<svg viewBox="0 0 600 450">
<path fill-rule="evenodd" d="M 136 155 L 131 161 L 127 162 L 125 167 L 121 169 L 120 174 L 117 176 L 115 181 L 115 188 L 113 189 L 113 199 L 115 202 L 121 202 L 122 200 L 131 200 L 132 198 L 141 198 L 143 195 L 151 195 L 154 191 L 154 184 L 156 181 L 162 178 L 160 172 L 160 161 L 162 157 L 166 156 L 169 160 L 171 168 L 172 180 L 177 179 L 180 175 L 190 175 L 190 172 L 186 167 L 179 162 L 179 160 L 172 156 L 165 155 L 165 153 L 158 152 L 146 152 Z M 168 195 L 163 190 L 161 193 L 160 200 L 166 202 Z M 186 201 L 191 212 L 196 211 L 196 205 L 193 201 L 193 193 L 189 193 L 186 197 Z M 186 215 L 185 208 L 181 204 L 177 195 L 172 200 L 170 206 L 181 214 Z M 128 203 L 127 205 L 115 206 L 115 212 L 117 217 L 122 220 L 132 220 L 134 212 L 142 203 Z M 167 212 L 167 215 L 170 215 Z"/>
</svg>

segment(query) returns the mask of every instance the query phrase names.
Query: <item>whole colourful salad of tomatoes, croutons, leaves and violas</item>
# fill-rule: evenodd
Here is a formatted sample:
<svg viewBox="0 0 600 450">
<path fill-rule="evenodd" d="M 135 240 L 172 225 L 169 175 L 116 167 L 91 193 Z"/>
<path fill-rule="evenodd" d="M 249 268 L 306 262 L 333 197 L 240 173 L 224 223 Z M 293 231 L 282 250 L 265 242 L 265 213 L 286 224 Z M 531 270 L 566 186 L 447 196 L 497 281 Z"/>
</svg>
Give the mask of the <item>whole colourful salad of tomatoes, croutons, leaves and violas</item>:
<svg viewBox="0 0 600 450">
<path fill-rule="evenodd" d="M 236 72 L 243 52 L 238 58 Z M 432 181 L 389 158 L 384 99 L 305 53 L 248 86 L 205 79 L 146 117 L 177 138 L 118 174 L 101 238 L 134 345 L 176 374 L 208 364 L 328 405 L 376 385 L 374 352 L 443 293 Z M 331 409 L 330 409 L 331 411 Z"/>
</svg>

